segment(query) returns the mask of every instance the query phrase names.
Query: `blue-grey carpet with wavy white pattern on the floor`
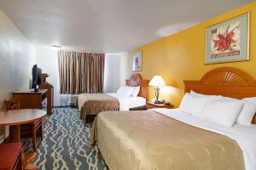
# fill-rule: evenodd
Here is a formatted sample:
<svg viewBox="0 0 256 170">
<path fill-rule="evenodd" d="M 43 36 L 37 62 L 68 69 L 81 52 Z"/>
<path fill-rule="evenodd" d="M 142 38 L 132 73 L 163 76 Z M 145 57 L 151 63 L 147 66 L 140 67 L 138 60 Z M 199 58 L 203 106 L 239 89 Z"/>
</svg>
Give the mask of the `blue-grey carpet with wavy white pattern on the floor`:
<svg viewBox="0 0 256 170">
<path fill-rule="evenodd" d="M 73 108 L 55 108 L 44 123 L 44 140 L 34 163 L 42 170 L 107 170 L 97 148 L 88 149 L 90 127 L 79 119 Z M 31 140 L 23 140 L 25 152 L 32 150 Z"/>
</svg>

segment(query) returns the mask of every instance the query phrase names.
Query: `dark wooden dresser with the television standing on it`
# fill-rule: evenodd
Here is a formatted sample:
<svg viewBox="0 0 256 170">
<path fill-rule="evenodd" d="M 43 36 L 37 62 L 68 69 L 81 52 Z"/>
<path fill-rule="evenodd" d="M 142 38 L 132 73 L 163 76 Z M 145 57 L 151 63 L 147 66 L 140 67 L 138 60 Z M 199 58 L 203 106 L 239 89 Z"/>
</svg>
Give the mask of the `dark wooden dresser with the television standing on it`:
<svg viewBox="0 0 256 170">
<path fill-rule="evenodd" d="M 20 100 L 20 109 L 41 109 L 47 110 L 47 89 L 31 92 L 30 90 L 17 91 L 13 97 Z M 48 114 L 51 114 L 47 111 Z"/>
</svg>

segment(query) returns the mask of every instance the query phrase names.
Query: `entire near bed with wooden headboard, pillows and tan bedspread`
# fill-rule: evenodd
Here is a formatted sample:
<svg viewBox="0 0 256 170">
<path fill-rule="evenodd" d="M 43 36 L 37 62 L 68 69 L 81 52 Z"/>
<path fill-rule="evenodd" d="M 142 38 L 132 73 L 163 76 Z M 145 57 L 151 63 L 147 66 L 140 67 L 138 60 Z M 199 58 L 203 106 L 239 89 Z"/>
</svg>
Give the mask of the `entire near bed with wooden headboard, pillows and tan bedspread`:
<svg viewBox="0 0 256 170">
<path fill-rule="evenodd" d="M 253 77 L 222 67 L 185 92 L 178 109 L 98 116 L 91 144 L 109 169 L 256 169 Z"/>
</svg>

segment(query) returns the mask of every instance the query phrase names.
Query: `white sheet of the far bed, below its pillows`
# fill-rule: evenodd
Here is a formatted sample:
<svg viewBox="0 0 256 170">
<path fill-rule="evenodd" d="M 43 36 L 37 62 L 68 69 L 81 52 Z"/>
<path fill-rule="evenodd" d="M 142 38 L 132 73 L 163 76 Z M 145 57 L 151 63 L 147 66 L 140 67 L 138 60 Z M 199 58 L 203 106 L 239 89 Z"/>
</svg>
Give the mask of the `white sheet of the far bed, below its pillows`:
<svg viewBox="0 0 256 170">
<path fill-rule="evenodd" d="M 132 107 L 146 105 L 146 99 L 143 97 L 124 97 L 118 94 L 108 94 L 119 99 L 119 111 L 129 111 Z"/>
</svg>

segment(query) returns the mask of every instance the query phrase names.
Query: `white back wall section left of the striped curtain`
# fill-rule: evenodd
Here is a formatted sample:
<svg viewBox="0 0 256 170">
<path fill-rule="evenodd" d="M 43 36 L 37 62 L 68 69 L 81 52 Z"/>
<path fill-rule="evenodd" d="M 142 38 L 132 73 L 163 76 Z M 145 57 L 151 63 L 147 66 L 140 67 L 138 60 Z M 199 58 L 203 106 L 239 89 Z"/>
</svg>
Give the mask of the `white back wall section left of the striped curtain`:
<svg viewBox="0 0 256 170">
<path fill-rule="evenodd" d="M 69 95 L 60 94 L 57 51 L 48 47 L 36 47 L 36 63 L 43 73 L 49 75 L 46 81 L 54 86 L 54 105 L 68 105 Z"/>
</svg>

